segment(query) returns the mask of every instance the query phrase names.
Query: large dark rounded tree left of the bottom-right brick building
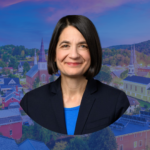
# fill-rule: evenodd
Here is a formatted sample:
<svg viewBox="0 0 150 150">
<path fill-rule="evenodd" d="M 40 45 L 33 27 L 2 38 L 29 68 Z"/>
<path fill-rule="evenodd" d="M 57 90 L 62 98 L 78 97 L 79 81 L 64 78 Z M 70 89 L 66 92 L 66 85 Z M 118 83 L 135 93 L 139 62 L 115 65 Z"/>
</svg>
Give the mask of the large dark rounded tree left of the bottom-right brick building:
<svg viewBox="0 0 150 150">
<path fill-rule="evenodd" d="M 88 145 L 94 150 L 117 150 L 116 138 L 109 127 L 92 133 L 88 139 Z"/>
</svg>

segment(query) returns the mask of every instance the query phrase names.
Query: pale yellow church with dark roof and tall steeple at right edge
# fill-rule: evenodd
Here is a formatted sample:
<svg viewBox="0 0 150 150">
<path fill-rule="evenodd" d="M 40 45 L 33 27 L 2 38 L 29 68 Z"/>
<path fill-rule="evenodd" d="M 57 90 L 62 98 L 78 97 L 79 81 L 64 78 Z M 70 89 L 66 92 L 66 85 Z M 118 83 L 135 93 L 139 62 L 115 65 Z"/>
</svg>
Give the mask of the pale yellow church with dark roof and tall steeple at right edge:
<svg viewBox="0 0 150 150">
<path fill-rule="evenodd" d="M 134 49 L 131 48 L 128 76 L 123 79 L 123 90 L 128 96 L 150 102 L 150 78 L 137 76 L 137 71 L 134 46 Z"/>
</svg>

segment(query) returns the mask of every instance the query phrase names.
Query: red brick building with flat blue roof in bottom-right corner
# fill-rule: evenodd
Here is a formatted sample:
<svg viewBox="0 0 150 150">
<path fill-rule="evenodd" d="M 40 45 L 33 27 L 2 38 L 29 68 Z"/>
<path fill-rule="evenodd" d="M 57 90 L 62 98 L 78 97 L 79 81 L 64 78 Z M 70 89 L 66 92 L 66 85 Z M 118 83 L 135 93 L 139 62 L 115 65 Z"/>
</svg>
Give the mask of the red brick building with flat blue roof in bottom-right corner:
<svg viewBox="0 0 150 150">
<path fill-rule="evenodd" d="M 145 117 L 142 115 L 122 115 L 110 125 L 116 137 L 117 150 L 146 150 L 146 147 L 150 148 L 150 113 L 145 113 Z"/>
</svg>

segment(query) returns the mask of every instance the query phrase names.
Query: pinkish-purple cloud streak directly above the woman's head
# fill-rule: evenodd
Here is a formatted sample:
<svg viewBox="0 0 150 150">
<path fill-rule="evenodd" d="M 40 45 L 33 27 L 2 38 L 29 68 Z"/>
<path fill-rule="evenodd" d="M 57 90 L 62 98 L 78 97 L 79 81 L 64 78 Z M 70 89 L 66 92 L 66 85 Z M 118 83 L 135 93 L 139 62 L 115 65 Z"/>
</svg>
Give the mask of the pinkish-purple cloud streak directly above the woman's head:
<svg viewBox="0 0 150 150">
<path fill-rule="evenodd" d="M 146 1 L 146 0 L 144 0 Z M 62 16 L 69 14 L 82 14 L 88 13 L 100 14 L 110 9 L 114 9 L 129 2 L 140 2 L 140 0 L 76 0 L 68 1 L 64 9 L 55 10 L 54 13 L 47 17 L 48 22 L 58 20 Z M 65 6 L 65 4 L 63 5 Z M 94 16 L 94 15 L 93 15 Z"/>
</svg>

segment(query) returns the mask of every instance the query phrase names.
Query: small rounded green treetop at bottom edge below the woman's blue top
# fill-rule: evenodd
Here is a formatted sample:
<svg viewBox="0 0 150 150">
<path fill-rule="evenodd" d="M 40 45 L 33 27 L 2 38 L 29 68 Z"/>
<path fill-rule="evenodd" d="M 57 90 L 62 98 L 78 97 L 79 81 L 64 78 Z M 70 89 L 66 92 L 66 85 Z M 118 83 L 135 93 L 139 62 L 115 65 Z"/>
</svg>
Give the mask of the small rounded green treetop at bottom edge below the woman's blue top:
<svg viewBox="0 0 150 150">
<path fill-rule="evenodd" d="M 64 150 L 89 150 L 87 142 L 81 137 L 75 137 L 70 140 L 70 143 L 66 146 Z"/>
</svg>

